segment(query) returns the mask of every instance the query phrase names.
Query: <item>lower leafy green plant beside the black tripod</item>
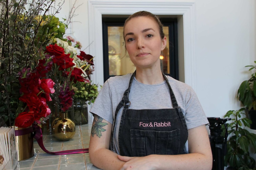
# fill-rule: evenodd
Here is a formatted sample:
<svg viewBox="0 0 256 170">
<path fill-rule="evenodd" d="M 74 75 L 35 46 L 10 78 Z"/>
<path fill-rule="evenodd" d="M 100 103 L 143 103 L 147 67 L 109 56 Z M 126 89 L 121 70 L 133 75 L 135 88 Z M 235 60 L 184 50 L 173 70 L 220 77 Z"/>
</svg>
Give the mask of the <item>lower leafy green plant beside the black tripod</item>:
<svg viewBox="0 0 256 170">
<path fill-rule="evenodd" d="M 255 168 L 255 160 L 249 155 L 249 146 L 256 151 L 256 135 L 250 133 L 244 127 L 249 127 L 251 120 L 246 118 L 245 108 L 230 110 L 224 118 L 231 118 L 227 123 L 229 139 L 227 140 L 227 153 L 224 157 L 227 169 L 249 170 Z M 255 152 L 256 153 L 256 152 Z"/>
</svg>

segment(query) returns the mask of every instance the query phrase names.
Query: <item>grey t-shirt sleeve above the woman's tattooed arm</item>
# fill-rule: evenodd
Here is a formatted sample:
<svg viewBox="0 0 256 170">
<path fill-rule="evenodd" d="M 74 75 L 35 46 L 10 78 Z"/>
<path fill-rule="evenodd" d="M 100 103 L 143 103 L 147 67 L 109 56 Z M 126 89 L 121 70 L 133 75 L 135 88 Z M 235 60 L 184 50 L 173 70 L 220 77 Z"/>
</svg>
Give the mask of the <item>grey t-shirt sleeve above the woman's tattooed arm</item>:
<svg viewBox="0 0 256 170">
<path fill-rule="evenodd" d="M 113 124 L 113 109 L 109 80 L 103 84 L 90 112 L 92 114 L 97 114 L 99 117 Z"/>
</svg>

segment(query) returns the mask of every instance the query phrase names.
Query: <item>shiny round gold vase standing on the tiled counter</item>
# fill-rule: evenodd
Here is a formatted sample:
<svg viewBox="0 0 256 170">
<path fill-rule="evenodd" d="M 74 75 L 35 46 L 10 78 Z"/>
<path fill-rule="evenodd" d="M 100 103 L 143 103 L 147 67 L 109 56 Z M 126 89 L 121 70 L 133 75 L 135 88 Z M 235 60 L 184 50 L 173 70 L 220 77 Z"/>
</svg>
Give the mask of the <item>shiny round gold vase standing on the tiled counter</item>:
<svg viewBox="0 0 256 170">
<path fill-rule="evenodd" d="M 60 113 L 52 122 L 52 132 L 58 140 L 67 141 L 75 135 L 75 123 L 67 118 L 67 113 Z"/>
</svg>

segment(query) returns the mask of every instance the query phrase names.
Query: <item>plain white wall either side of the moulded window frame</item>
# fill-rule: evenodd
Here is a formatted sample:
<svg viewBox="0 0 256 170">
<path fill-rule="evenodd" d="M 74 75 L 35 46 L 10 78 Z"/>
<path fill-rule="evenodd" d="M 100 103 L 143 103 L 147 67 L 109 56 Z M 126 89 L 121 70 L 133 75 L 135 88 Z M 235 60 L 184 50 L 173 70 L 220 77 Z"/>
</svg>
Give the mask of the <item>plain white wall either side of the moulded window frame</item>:
<svg viewBox="0 0 256 170">
<path fill-rule="evenodd" d="M 66 0 L 58 14 L 60 18 L 68 15 L 74 1 Z M 256 60 L 256 2 L 189 2 L 195 3 L 195 91 L 208 117 L 223 117 L 228 110 L 240 108 L 236 93 L 240 83 L 249 77 L 244 66 Z M 92 23 L 88 23 L 88 0 L 77 0 L 76 6 L 79 4 L 82 5 L 76 11 L 78 16 L 73 18 L 79 22 L 73 22 L 69 31 L 84 49 L 91 43 L 89 24 Z M 90 54 L 89 48 L 85 52 Z"/>
</svg>

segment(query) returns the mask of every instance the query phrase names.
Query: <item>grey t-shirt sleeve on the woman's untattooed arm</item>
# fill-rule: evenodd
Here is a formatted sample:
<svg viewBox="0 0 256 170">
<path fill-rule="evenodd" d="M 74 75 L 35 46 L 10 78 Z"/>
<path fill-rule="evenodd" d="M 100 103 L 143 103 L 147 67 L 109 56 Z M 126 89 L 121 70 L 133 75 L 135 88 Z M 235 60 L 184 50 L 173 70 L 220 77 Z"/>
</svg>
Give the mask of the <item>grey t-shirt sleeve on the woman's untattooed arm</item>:
<svg viewBox="0 0 256 170">
<path fill-rule="evenodd" d="M 185 103 L 185 120 L 188 129 L 209 123 L 199 99 L 192 88 L 189 90 Z"/>
</svg>

